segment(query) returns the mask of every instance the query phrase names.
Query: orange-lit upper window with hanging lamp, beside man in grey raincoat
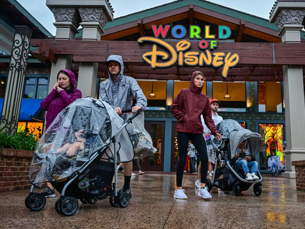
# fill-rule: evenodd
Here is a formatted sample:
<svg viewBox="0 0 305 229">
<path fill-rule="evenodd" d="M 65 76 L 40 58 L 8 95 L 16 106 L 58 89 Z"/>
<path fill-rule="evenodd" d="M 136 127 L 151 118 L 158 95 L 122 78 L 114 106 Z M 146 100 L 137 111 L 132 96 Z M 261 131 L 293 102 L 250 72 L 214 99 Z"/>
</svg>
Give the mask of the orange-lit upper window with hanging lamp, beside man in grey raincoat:
<svg viewBox="0 0 305 229">
<path fill-rule="evenodd" d="M 137 80 L 137 82 L 147 99 L 146 110 L 165 110 L 166 81 Z M 149 97 L 152 91 L 155 97 Z"/>
</svg>

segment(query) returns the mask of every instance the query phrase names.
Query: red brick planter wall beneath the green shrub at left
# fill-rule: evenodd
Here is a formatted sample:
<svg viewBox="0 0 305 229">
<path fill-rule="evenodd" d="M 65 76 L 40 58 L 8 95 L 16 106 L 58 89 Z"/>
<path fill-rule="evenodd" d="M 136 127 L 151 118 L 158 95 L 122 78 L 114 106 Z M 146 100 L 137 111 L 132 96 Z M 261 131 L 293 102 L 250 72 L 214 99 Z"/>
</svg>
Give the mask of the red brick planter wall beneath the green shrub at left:
<svg viewBox="0 0 305 229">
<path fill-rule="evenodd" d="M 33 151 L 0 148 L 0 192 L 28 189 Z"/>
</svg>

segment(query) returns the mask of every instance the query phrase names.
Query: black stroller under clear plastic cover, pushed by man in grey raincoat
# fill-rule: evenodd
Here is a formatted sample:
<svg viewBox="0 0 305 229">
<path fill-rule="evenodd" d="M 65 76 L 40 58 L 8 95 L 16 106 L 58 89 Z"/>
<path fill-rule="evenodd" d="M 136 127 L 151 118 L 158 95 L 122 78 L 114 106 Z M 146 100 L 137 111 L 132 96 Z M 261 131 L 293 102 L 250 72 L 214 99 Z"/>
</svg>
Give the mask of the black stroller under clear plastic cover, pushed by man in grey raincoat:
<svg viewBox="0 0 305 229">
<path fill-rule="evenodd" d="M 55 209 L 64 216 L 77 211 L 77 199 L 94 204 L 110 196 L 112 206 L 126 207 L 129 196 L 127 192 L 118 194 L 116 164 L 107 159 L 116 162 L 120 149 L 121 162 L 133 160 L 126 125 L 139 113 L 124 122 L 109 104 L 91 97 L 78 99 L 61 111 L 35 147 L 26 207 L 38 211 L 45 206 L 45 197 L 33 193 L 34 187 L 41 188 L 43 182 L 50 182 L 61 193 Z"/>
</svg>

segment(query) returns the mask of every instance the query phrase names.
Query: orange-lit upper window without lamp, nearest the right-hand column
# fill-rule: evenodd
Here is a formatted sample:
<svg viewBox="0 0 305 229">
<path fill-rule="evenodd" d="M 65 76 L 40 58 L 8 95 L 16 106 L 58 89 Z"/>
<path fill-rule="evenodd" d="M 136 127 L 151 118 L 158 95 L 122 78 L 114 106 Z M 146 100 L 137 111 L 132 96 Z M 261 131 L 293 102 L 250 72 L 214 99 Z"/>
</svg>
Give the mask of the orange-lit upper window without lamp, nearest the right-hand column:
<svg viewBox="0 0 305 229">
<path fill-rule="evenodd" d="M 259 112 L 283 112 L 280 82 L 258 82 L 257 99 Z"/>
</svg>

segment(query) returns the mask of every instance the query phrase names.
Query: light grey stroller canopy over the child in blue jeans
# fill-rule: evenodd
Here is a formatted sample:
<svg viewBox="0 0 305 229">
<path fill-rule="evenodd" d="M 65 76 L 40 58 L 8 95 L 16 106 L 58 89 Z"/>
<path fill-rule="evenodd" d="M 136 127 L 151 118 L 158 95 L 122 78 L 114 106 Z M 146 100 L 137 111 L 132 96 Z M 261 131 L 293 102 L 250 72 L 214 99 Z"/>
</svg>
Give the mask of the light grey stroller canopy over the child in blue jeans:
<svg viewBox="0 0 305 229">
<path fill-rule="evenodd" d="M 247 140 L 249 144 L 249 151 L 254 157 L 256 157 L 256 154 L 262 145 L 262 138 L 260 134 L 253 133 L 248 129 L 240 129 L 240 130 L 232 131 L 230 133 L 229 138 L 230 138 L 231 158 L 234 157 L 238 145 L 244 140 Z"/>
</svg>

